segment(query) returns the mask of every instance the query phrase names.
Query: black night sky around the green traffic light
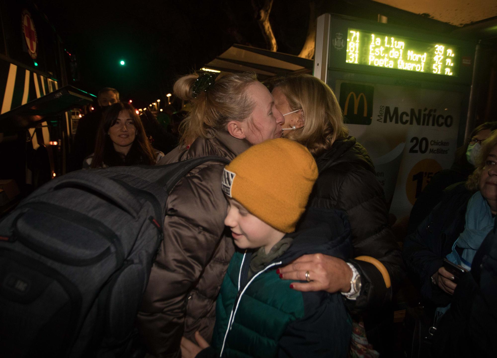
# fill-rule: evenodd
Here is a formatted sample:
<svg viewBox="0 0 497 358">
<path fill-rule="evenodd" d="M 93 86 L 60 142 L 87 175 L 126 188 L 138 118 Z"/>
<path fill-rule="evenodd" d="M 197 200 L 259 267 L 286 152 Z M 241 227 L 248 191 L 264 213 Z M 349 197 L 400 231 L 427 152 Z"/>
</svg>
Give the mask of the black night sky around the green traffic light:
<svg viewBox="0 0 497 358">
<path fill-rule="evenodd" d="M 177 77 L 234 43 L 266 48 L 250 0 L 36 3 L 77 56 L 81 81 L 74 85 L 92 93 L 114 87 L 137 106 L 165 98 Z M 297 55 L 307 34 L 308 1 L 275 0 L 271 14 L 278 51 Z"/>
</svg>

